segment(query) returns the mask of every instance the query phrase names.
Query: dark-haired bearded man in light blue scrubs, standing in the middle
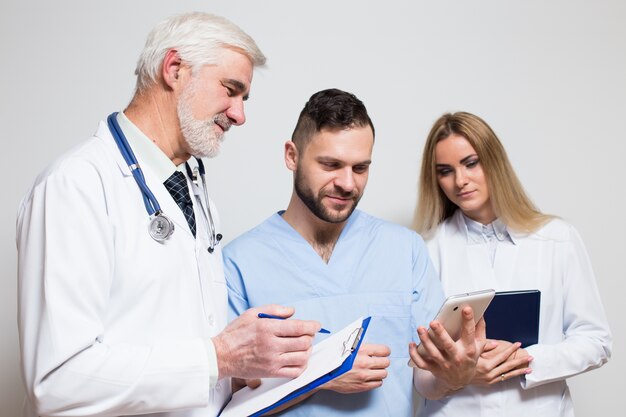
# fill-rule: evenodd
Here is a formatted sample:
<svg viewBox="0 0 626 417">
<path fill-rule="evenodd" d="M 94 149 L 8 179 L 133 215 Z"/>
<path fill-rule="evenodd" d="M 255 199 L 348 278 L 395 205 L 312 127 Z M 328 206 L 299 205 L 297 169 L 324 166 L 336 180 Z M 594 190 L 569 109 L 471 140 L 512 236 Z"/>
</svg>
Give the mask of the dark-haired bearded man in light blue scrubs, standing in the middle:
<svg viewBox="0 0 626 417">
<path fill-rule="evenodd" d="M 417 233 L 355 210 L 373 145 L 374 126 L 359 99 L 336 89 L 314 94 L 285 143 L 294 174 L 289 206 L 224 249 L 234 315 L 268 303 L 291 305 L 294 317 L 331 331 L 372 317 L 352 371 L 283 415 L 414 414 L 408 346 L 444 295 Z M 439 387 L 458 386 L 453 365 L 444 366 Z"/>
</svg>

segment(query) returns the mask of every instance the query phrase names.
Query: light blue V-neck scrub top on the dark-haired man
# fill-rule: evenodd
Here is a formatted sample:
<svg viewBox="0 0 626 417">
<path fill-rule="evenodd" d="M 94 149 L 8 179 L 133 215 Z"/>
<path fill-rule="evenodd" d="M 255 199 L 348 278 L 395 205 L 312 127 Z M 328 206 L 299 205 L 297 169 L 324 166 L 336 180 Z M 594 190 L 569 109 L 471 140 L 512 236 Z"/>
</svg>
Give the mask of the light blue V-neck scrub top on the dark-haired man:
<svg viewBox="0 0 626 417">
<path fill-rule="evenodd" d="M 250 307 L 282 304 L 295 307 L 294 317 L 318 320 L 333 331 L 371 316 L 364 343 L 389 346 L 391 365 L 380 388 L 358 394 L 322 390 L 278 415 L 412 416 L 408 344 L 418 340 L 417 326 L 427 326 L 444 300 L 424 241 L 355 210 L 326 264 L 282 213 L 224 248 L 232 317 Z"/>
</svg>

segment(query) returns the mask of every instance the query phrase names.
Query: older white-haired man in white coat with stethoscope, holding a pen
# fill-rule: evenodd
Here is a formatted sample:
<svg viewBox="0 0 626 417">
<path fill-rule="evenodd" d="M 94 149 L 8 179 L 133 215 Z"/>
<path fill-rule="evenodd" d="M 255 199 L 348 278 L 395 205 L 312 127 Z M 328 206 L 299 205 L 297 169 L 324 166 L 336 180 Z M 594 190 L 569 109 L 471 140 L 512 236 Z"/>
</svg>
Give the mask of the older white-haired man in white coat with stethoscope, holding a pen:
<svg viewBox="0 0 626 417">
<path fill-rule="evenodd" d="M 203 181 L 264 63 L 221 17 L 160 23 L 128 107 L 36 179 L 17 219 L 25 416 L 216 416 L 231 378 L 304 370 L 319 323 L 267 305 L 227 325 Z"/>
</svg>

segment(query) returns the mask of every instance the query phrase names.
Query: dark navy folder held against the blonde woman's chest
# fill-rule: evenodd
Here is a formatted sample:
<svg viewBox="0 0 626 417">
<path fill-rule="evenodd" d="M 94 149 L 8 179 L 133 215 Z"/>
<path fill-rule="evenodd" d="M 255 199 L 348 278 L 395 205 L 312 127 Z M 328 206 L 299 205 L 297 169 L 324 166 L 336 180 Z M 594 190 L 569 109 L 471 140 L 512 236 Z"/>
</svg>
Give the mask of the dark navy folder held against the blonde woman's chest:
<svg viewBox="0 0 626 417">
<path fill-rule="evenodd" d="M 520 342 L 522 348 L 539 341 L 539 290 L 499 291 L 485 311 L 487 338 Z"/>
</svg>

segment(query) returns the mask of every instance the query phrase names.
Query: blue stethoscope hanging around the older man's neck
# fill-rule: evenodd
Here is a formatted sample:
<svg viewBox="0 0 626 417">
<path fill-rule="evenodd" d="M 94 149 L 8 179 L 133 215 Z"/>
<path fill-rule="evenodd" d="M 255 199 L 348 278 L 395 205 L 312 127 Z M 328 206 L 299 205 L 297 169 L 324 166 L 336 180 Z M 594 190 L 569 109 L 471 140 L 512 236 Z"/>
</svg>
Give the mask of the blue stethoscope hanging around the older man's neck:
<svg viewBox="0 0 626 417">
<path fill-rule="evenodd" d="M 148 211 L 148 215 L 150 216 L 148 233 L 150 234 L 152 239 L 156 240 L 157 242 L 163 242 L 174 233 L 174 223 L 170 220 L 169 217 L 163 214 L 159 202 L 157 201 L 154 194 L 152 194 L 152 191 L 150 191 L 148 184 L 146 184 L 146 179 L 143 176 L 143 171 L 141 170 L 141 167 L 139 167 L 137 158 L 135 157 L 133 150 L 126 140 L 126 136 L 124 136 L 124 132 L 122 132 L 122 129 L 117 122 L 117 112 L 111 113 L 109 115 L 109 117 L 107 118 L 107 124 L 109 125 L 109 130 L 113 135 L 113 139 L 115 140 L 117 147 L 124 157 L 124 161 L 126 161 L 126 164 L 128 165 L 128 168 L 133 174 L 133 178 L 135 179 L 135 182 L 137 183 L 137 186 L 141 191 L 144 205 L 146 206 L 146 210 Z M 193 172 L 191 170 L 191 167 L 187 163 L 185 164 L 185 168 L 187 170 L 187 174 L 197 187 L 200 187 L 198 177 L 200 177 L 202 181 L 201 188 L 204 192 L 204 202 L 201 201 L 196 193 L 194 194 L 196 194 L 196 199 L 200 206 L 203 208 L 201 210 L 202 215 L 209 230 L 209 247 L 207 248 L 207 250 L 209 251 L 209 253 L 213 253 L 215 247 L 222 239 L 222 235 L 220 233 L 216 233 L 215 231 L 215 223 L 213 221 L 213 216 L 211 215 L 211 207 L 209 206 L 209 194 L 207 192 L 206 186 L 204 163 L 200 158 L 195 159 L 198 165 L 194 168 Z"/>
</svg>

